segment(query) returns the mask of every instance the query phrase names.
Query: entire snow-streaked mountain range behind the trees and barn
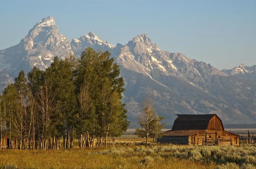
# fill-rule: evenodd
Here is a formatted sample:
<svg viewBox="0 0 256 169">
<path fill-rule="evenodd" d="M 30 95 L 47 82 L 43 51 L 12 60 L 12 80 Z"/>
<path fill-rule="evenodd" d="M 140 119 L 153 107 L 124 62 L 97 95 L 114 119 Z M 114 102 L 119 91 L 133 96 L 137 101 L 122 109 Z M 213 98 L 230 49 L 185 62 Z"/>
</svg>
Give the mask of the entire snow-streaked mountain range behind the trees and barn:
<svg viewBox="0 0 256 169">
<path fill-rule="evenodd" d="M 45 70 L 54 56 L 79 56 L 86 47 L 110 51 L 119 64 L 131 127 L 136 127 L 140 104 L 149 93 L 166 124 L 172 124 L 180 113 L 215 113 L 225 124 L 256 120 L 256 65 L 218 70 L 183 54 L 162 51 L 148 34 L 139 34 L 125 45 L 111 45 L 90 31 L 70 43 L 59 33 L 53 17 L 36 23 L 19 44 L 0 50 L 0 90 L 20 70 L 28 73 L 33 66 Z"/>
</svg>

